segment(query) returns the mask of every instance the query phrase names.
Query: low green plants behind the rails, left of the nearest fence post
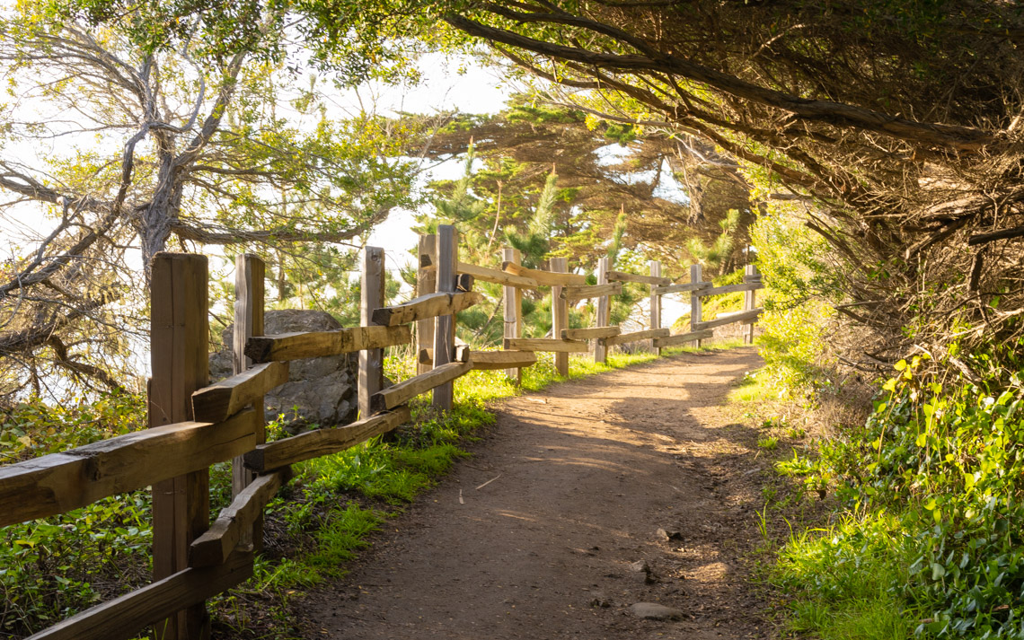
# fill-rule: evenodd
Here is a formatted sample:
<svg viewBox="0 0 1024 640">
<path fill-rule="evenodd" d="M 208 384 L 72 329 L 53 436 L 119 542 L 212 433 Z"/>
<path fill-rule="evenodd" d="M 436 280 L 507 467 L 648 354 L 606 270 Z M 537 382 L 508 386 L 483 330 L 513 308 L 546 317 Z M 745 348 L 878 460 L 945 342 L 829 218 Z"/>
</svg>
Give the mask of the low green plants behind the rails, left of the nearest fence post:
<svg viewBox="0 0 1024 640">
<path fill-rule="evenodd" d="M 144 428 L 145 400 L 126 393 L 0 414 L 0 464 L 58 453 Z M 228 480 L 229 484 L 229 480 Z M 120 595 L 148 574 L 150 493 L 103 499 L 51 518 L 0 528 L 0 634 L 26 635 Z"/>
</svg>

